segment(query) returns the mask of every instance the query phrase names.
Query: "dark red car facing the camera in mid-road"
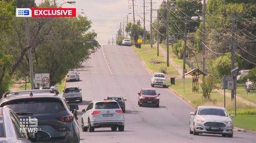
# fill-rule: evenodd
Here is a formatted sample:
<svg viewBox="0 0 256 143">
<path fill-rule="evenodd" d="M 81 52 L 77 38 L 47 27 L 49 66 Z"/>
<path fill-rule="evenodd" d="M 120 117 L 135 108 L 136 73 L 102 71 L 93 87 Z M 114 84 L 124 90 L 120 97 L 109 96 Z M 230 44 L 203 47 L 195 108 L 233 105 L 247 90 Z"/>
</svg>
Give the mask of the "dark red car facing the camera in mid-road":
<svg viewBox="0 0 256 143">
<path fill-rule="evenodd" d="M 159 95 L 155 89 L 142 88 L 138 93 L 138 105 L 155 105 L 159 107 Z"/>
</svg>

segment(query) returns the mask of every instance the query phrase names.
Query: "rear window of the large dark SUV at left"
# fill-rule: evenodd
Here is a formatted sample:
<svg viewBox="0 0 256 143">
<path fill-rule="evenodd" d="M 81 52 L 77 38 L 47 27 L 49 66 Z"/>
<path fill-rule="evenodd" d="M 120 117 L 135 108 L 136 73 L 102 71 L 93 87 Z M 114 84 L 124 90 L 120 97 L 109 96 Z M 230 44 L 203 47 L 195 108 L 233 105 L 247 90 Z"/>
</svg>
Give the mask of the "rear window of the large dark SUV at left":
<svg viewBox="0 0 256 143">
<path fill-rule="evenodd" d="M 13 100 L 7 102 L 6 106 L 11 108 L 14 112 L 32 112 L 34 115 L 58 113 L 66 110 L 62 101 L 54 98 L 30 98 Z"/>
</svg>

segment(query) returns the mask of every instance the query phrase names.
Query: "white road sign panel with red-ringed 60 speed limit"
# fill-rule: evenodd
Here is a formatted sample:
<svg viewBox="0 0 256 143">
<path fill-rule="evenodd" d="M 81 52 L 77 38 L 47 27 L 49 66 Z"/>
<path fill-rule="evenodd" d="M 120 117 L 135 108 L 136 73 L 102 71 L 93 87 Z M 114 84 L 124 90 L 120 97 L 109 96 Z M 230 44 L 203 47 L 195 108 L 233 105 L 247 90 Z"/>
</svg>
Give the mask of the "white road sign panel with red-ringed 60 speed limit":
<svg viewBox="0 0 256 143">
<path fill-rule="evenodd" d="M 50 74 L 49 73 L 36 73 L 35 74 L 35 88 L 50 88 Z"/>
</svg>

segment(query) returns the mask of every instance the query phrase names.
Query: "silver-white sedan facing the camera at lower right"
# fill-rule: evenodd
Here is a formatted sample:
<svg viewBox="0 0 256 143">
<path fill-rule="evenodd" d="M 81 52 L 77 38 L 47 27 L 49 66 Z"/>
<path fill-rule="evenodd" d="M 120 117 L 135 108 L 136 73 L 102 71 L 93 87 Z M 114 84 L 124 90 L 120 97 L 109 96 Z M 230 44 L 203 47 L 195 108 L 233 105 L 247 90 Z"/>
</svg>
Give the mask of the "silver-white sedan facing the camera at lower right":
<svg viewBox="0 0 256 143">
<path fill-rule="evenodd" d="M 224 107 L 198 106 L 195 112 L 190 112 L 189 133 L 222 134 L 222 136 L 233 137 L 234 115 L 228 115 Z"/>
</svg>

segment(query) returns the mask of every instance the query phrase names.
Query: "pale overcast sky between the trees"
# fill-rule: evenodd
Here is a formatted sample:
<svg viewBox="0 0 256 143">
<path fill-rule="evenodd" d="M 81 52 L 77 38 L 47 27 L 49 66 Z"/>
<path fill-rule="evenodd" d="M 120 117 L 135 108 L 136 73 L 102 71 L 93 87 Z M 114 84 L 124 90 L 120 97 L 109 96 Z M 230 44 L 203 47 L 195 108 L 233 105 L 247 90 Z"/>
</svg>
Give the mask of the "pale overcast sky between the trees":
<svg viewBox="0 0 256 143">
<path fill-rule="evenodd" d="M 69 0 L 72 1 L 72 0 Z M 163 0 L 152 0 L 153 9 L 158 9 Z M 35 0 L 38 5 L 42 0 Z M 58 5 L 64 2 L 63 0 L 56 1 Z M 92 21 L 92 29 L 98 33 L 97 40 L 100 44 L 108 44 L 108 40 L 116 38 L 118 29 L 120 28 L 120 22 L 122 22 L 121 28 L 123 28 L 123 20 L 126 23 L 126 16 L 128 15 L 128 21 L 133 21 L 132 9 L 128 6 L 132 6 L 132 1 L 127 0 L 75 0 L 76 4 L 63 4 L 62 8 L 76 8 L 77 13 L 84 12 L 83 16 L 87 16 Z M 145 9 L 150 10 L 150 0 L 145 0 Z M 143 17 L 143 0 L 135 0 L 135 20 L 140 19 L 143 26 L 142 19 L 136 15 L 136 12 Z M 146 14 L 146 29 L 149 31 L 150 27 L 150 11 L 145 11 Z M 157 12 L 153 11 L 153 19 L 157 16 Z M 147 21 L 148 20 L 148 21 Z M 124 26 L 125 26 L 124 23 Z M 126 33 L 124 32 L 124 35 Z"/>
</svg>

